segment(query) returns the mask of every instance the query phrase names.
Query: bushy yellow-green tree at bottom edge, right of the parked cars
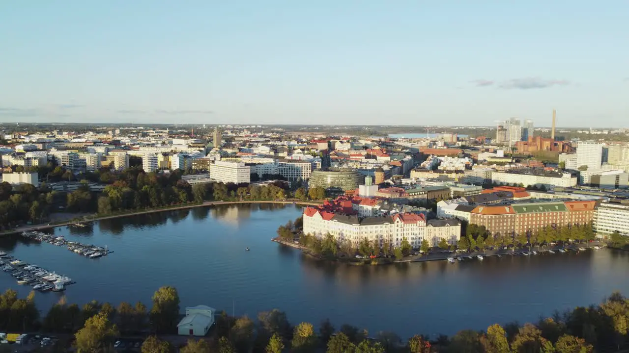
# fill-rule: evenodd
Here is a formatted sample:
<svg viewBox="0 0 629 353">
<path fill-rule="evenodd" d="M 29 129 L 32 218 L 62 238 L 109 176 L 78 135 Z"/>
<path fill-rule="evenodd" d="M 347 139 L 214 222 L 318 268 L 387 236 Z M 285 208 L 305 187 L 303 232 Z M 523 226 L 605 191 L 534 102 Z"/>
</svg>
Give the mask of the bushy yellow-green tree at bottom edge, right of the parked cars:
<svg viewBox="0 0 629 353">
<path fill-rule="evenodd" d="M 107 315 L 97 313 L 88 318 L 84 327 L 74 335 L 77 351 L 79 353 L 100 353 L 111 349 L 111 344 L 118 337 L 118 334 L 118 328 L 109 322 Z"/>
</svg>

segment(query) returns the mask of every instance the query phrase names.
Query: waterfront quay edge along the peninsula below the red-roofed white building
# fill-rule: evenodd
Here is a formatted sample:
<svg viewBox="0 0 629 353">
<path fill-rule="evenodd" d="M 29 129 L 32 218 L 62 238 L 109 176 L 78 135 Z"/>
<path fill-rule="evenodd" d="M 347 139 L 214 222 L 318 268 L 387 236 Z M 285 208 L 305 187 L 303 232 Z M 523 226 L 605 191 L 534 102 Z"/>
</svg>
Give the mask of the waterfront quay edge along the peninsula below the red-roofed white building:
<svg viewBox="0 0 629 353">
<path fill-rule="evenodd" d="M 549 250 L 557 251 L 557 253 L 560 254 L 559 249 L 565 249 L 567 252 L 574 251 L 576 253 L 579 253 L 580 252 L 579 247 L 584 247 L 587 250 L 587 249 L 593 249 L 594 246 L 599 246 L 602 249 L 605 249 L 606 247 L 610 247 L 611 249 L 618 249 L 616 247 L 607 246 L 603 242 L 595 241 L 595 242 L 590 242 L 587 244 L 571 244 L 570 246 L 565 246 L 565 247 L 555 246 L 555 247 L 548 247 L 544 249 L 532 249 L 530 251 L 528 251 L 527 249 L 517 249 L 517 250 L 507 249 L 507 250 L 498 250 L 498 251 L 474 251 L 471 253 L 455 253 L 455 254 L 431 253 L 428 255 L 406 256 L 406 258 L 396 260 L 392 258 L 375 258 L 375 259 L 323 258 L 320 256 L 316 256 L 314 254 L 311 254 L 307 247 L 302 246 L 300 244 L 296 244 L 293 241 L 287 241 L 287 240 L 278 239 L 278 238 L 272 238 L 271 241 L 277 242 L 278 244 L 282 244 L 284 246 L 290 246 L 295 249 L 299 249 L 301 250 L 301 253 L 303 253 L 304 255 L 309 256 L 309 258 L 316 259 L 318 261 L 326 261 L 329 263 L 345 263 L 345 264 L 350 264 L 354 266 L 364 266 L 364 265 L 377 266 L 377 265 L 399 264 L 399 263 L 423 263 L 423 262 L 428 262 L 428 261 L 443 261 L 443 260 L 447 260 L 448 258 L 461 258 L 460 261 L 469 261 L 469 260 L 480 261 L 477 258 L 477 256 L 479 255 L 482 256 L 483 258 L 494 257 L 498 255 L 499 256 L 526 256 L 526 255 L 523 255 L 523 253 L 536 251 L 537 253 L 541 254 L 541 253 L 548 253 Z M 528 256 L 535 256 L 535 255 L 530 254 Z M 456 261 L 456 262 L 459 262 L 459 261 Z"/>
</svg>

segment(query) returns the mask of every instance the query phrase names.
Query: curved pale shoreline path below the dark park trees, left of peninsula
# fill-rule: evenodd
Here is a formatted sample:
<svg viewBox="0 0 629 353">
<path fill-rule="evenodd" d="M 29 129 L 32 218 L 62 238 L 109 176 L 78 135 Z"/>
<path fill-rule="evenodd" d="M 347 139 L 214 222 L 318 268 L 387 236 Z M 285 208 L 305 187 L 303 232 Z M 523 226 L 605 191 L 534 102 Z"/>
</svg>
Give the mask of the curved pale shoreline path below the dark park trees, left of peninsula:
<svg viewBox="0 0 629 353">
<path fill-rule="evenodd" d="M 35 224 L 35 225 L 25 225 L 23 227 L 18 227 L 15 229 L 10 229 L 7 231 L 3 231 L 0 232 L 0 237 L 1 236 L 9 236 L 11 234 L 19 234 L 21 232 L 30 232 L 30 231 L 38 231 L 40 229 L 47 229 L 47 228 L 55 228 L 55 227 L 64 227 L 65 225 L 72 225 L 72 224 L 76 224 L 76 223 L 87 223 L 87 222 L 95 222 L 97 220 L 104 220 L 104 219 L 114 219 L 114 218 L 120 218 L 120 217 L 127 217 L 127 216 L 132 216 L 132 215 L 140 215 L 140 214 L 152 214 L 152 213 L 156 213 L 156 212 L 163 212 L 163 211 L 172 211 L 172 210 L 183 210 L 183 209 L 192 209 L 195 207 L 211 207 L 211 206 L 218 206 L 218 205 L 240 205 L 240 204 L 281 204 L 281 205 L 308 205 L 308 206 L 316 206 L 316 205 L 320 205 L 320 203 L 318 202 L 311 202 L 311 201 L 297 201 L 297 200 L 286 200 L 286 201 L 282 201 L 282 200 L 267 200 L 267 201 L 205 201 L 205 202 L 201 202 L 201 203 L 190 203 L 190 204 L 179 204 L 179 205 L 172 205 L 169 207 L 160 207 L 160 208 L 156 208 L 156 209 L 145 209 L 145 210 L 135 210 L 135 211 L 130 211 L 130 212 L 121 212 L 118 214 L 109 214 L 109 215 L 97 215 L 94 218 L 89 218 L 89 219 L 83 219 L 83 220 L 65 220 L 62 221 L 60 223 L 49 223 L 49 224 Z"/>
</svg>

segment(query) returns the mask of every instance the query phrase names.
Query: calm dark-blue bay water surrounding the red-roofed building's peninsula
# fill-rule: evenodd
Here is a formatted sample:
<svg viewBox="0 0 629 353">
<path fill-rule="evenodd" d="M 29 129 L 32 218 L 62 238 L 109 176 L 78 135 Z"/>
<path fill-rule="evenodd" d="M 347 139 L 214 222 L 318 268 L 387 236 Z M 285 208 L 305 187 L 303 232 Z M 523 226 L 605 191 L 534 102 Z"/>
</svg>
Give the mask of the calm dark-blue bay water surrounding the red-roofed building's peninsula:
<svg viewBox="0 0 629 353">
<path fill-rule="evenodd" d="M 182 308 L 204 304 L 231 312 L 234 303 L 237 315 L 250 317 L 279 308 L 292 323 L 329 317 L 337 327 L 350 323 L 402 337 L 537 320 L 555 309 L 599 303 L 613 290 L 629 294 L 629 253 L 611 250 L 455 264 L 319 263 L 270 241 L 278 225 L 300 213 L 292 205 L 241 205 L 54 229 L 114 251 L 100 259 L 21 237 L 0 239 L 0 250 L 77 281 L 65 291 L 69 302 L 141 300 L 150 307 L 153 291 L 172 285 Z M 30 289 L 0 272 L 0 289 L 6 288 L 23 296 Z M 38 293 L 38 306 L 47 310 L 59 297 Z"/>
</svg>

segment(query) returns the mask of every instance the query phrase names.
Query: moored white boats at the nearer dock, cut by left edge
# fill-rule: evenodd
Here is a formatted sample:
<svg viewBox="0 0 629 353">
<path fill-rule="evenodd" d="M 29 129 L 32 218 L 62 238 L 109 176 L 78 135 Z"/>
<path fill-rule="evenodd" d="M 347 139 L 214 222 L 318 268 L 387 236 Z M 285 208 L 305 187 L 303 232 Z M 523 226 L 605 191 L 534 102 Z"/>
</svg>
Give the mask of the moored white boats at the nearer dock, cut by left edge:
<svg viewBox="0 0 629 353">
<path fill-rule="evenodd" d="M 50 272 L 35 264 L 28 264 L 20 259 L 0 251 L 0 270 L 8 272 L 20 285 L 31 285 L 38 291 L 63 291 L 66 285 L 74 282 L 67 276 Z"/>
</svg>

